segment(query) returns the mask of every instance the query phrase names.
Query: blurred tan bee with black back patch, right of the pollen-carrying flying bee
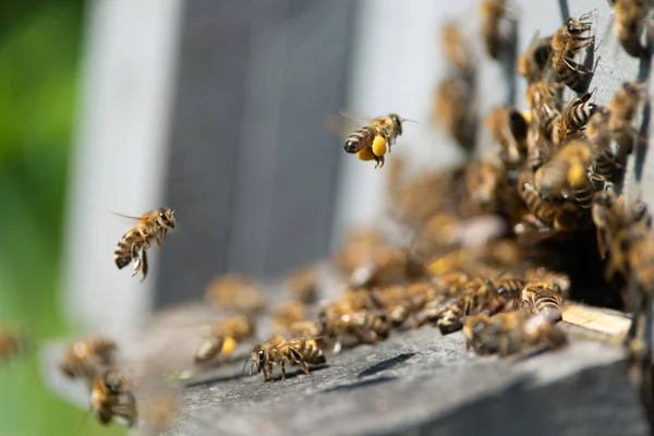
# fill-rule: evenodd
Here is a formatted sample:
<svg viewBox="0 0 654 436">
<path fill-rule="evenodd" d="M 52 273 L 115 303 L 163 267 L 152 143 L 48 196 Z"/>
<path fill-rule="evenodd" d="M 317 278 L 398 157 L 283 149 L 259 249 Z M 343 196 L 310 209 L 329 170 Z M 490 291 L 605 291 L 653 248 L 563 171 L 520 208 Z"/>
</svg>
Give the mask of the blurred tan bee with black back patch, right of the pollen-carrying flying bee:
<svg viewBox="0 0 654 436">
<path fill-rule="evenodd" d="M 524 160 L 529 122 L 520 111 L 508 106 L 497 107 L 486 117 L 485 125 L 501 146 L 502 161 L 518 166 Z"/>
</svg>

